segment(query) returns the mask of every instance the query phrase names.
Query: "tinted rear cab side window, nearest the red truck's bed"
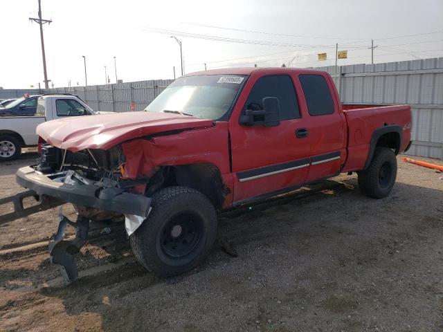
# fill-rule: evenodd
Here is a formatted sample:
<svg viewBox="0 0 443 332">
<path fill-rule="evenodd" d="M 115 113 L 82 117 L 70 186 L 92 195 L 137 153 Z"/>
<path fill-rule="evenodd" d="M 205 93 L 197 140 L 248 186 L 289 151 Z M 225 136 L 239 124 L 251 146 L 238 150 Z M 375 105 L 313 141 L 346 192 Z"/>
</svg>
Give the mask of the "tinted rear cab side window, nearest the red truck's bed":
<svg viewBox="0 0 443 332">
<path fill-rule="evenodd" d="M 331 90 L 323 75 L 298 75 L 303 93 L 305 94 L 307 110 L 311 116 L 325 116 L 334 113 L 334 100 Z"/>
</svg>

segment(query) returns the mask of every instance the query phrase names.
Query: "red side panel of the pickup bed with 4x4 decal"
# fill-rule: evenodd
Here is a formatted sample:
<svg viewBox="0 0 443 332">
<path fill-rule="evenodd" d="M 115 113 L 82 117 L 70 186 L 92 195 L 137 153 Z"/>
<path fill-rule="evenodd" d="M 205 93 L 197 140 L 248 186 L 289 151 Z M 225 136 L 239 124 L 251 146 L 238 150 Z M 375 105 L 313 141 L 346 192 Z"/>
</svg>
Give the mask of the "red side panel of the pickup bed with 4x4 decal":
<svg viewBox="0 0 443 332">
<path fill-rule="evenodd" d="M 352 172 L 365 168 L 370 156 L 372 133 L 386 129 L 397 129 L 400 149 L 405 151 L 410 142 L 410 106 L 375 106 L 368 104 L 344 104 L 347 132 L 347 160 L 343 172 Z M 389 137 L 395 139 L 395 137 Z M 374 147 L 373 147 L 374 148 Z"/>
</svg>

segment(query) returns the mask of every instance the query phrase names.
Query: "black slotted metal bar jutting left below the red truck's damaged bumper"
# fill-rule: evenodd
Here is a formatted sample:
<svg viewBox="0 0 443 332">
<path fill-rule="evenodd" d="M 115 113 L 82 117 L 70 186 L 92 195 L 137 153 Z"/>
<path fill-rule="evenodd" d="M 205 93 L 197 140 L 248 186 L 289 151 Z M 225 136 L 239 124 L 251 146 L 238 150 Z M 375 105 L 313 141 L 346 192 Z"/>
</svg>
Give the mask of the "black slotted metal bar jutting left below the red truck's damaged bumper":
<svg viewBox="0 0 443 332">
<path fill-rule="evenodd" d="M 23 200 L 31 196 L 35 197 L 35 205 L 24 208 Z M 30 216 L 31 214 L 35 214 L 37 212 L 55 208 L 56 206 L 63 204 L 62 201 L 54 199 L 53 197 L 47 197 L 43 195 L 38 196 L 33 190 L 19 192 L 18 194 L 15 194 L 13 196 L 0 199 L 0 211 L 4 211 L 6 209 L 6 206 L 2 205 L 6 205 L 8 203 L 12 203 L 14 205 L 14 211 L 0 215 L 0 225 L 3 225 L 3 223 L 14 221 L 15 219 Z"/>
</svg>

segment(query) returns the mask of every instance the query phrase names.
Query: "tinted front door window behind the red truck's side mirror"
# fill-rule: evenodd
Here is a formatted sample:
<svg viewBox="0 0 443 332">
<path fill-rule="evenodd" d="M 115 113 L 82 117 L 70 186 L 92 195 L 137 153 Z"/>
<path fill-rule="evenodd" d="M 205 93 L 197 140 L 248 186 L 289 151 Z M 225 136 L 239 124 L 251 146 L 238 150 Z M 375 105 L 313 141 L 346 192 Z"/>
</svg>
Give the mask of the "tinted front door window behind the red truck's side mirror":
<svg viewBox="0 0 443 332">
<path fill-rule="evenodd" d="M 280 120 L 300 118 L 296 90 L 289 75 L 260 77 L 248 95 L 244 110 L 263 109 L 263 98 L 265 97 L 275 97 L 280 101 Z"/>
</svg>

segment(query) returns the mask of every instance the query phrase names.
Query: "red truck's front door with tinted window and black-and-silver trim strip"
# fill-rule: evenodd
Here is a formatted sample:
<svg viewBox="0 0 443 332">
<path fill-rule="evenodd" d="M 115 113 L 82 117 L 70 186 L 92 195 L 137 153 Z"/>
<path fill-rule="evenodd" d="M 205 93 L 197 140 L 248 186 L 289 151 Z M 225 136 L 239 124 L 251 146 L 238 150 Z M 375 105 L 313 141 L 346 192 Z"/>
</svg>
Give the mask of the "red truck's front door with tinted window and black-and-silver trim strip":
<svg viewBox="0 0 443 332">
<path fill-rule="evenodd" d="M 305 120 L 300 116 L 292 77 L 259 77 L 253 82 L 242 113 L 262 108 L 265 97 L 280 101 L 280 125 L 246 126 L 238 119 L 229 122 L 234 203 L 296 187 L 306 181 L 309 173 L 309 135 L 303 134 Z"/>
</svg>

